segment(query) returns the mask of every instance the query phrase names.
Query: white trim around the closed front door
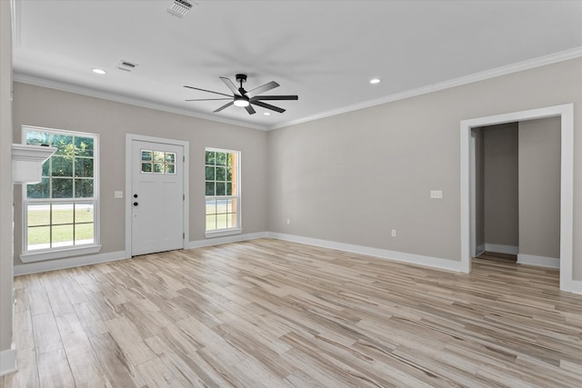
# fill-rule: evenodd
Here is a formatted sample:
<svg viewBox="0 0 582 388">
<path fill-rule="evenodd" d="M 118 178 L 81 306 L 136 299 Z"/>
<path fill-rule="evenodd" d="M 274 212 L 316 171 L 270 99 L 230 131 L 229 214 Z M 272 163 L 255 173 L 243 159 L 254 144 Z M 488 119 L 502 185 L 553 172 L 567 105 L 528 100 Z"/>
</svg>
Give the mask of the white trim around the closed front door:
<svg viewBox="0 0 582 388">
<path fill-rule="evenodd" d="M 184 239 L 182 240 L 182 249 L 187 249 L 190 243 L 190 148 L 189 142 L 184 140 L 166 139 L 162 137 L 146 136 L 143 134 L 125 134 L 125 257 L 132 256 L 131 244 L 131 193 L 132 193 L 132 144 L 134 141 L 171 144 L 184 148 L 184 224 L 182 230 Z"/>
</svg>

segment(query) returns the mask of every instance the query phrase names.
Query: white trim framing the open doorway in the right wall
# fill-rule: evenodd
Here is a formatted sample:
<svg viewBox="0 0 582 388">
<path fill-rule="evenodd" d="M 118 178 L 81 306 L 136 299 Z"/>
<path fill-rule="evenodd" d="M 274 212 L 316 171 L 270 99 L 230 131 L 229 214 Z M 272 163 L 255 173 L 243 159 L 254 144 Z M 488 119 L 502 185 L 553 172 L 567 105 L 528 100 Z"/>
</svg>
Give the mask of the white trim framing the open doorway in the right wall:
<svg viewBox="0 0 582 388">
<path fill-rule="evenodd" d="M 475 234 L 475 216 L 470 209 L 471 129 L 546 117 L 561 118 L 560 171 L 560 290 L 576 292 L 573 269 L 574 218 L 574 104 L 562 104 L 509 114 L 497 114 L 461 121 L 461 271 L 471 271 L 471 234 Z"/>
</svg>

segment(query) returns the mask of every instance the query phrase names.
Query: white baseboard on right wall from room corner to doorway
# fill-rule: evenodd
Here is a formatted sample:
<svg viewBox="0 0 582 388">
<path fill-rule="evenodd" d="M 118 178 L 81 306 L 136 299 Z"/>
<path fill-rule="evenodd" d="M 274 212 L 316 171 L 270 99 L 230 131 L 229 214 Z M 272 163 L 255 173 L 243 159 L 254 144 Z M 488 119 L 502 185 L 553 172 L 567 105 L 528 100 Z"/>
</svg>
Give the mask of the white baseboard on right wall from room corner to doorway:
<svg viewBox="0 0 582 388">
<path fill-rule="evenodd" d="M 319 240 L 315 238 L 302 237 L 293 234 L 268 233 L 268 237 L 279 240 L 290 241 L 292 243 L 316 245 L 323 248 L 336 249 L 338 251 L 352 252 L 354 254 L 366 254 L 382 259 L 394 260 L 408 264 L 418 264 L 427 267 L 438 268 L 441 270 L 461 272 L 462 266 L 460 261 L 441 259 L 439 257 L 423 256 L 420 254 L 406 254 L 404 252 L 388 251 L 386 249 L 371 248 L 368 246 L 336 243 L 334 241 Z"/>
</svg>

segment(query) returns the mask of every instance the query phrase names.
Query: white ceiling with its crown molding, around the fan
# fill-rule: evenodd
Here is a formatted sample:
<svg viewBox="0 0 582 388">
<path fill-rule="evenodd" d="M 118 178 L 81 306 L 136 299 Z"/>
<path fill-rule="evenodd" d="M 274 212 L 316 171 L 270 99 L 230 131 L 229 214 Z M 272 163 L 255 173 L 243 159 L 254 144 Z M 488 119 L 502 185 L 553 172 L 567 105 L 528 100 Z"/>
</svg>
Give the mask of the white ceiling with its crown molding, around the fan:
<svg viewBox="0 0 582 388">
<path fill-rule="evenodd" d="M 256 128 L 276 128 L 545 55 L 582 50 L 582 1 L 15 0 L 15 80 Z M 118 70 L 121 60 L 138 66 Z M 94 67 L 107 75 L 95 75 Z M 183 85 L 228 94 L 219 76 L 269 81 L 266 116 Z M 369 85 L 369 79 L 382 82 Z"/>
</svg>

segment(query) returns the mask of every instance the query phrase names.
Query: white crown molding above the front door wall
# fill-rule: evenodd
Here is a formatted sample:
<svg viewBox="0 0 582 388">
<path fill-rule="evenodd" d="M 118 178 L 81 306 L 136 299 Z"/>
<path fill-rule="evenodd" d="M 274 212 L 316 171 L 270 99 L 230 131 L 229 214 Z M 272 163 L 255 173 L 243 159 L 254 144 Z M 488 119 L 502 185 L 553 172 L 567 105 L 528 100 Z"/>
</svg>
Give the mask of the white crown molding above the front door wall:
<svg viewBox="0 0 582 388">
<path fill-rule="evenodd" d="M 199 119 L 208 120 L 212 122 L 244 126 L 246 128 L 258 129 L 261 131 L 266 131 L 268 129 L 266 126 L 262 125 L 246 124 L 240 121 L 230 120 L 223 117 L 211 116 L 209 114 L 198 114 L 187 109 L 178 108 L 176 106 L 153 103 L 151 101 L 141 100 L 139 98 L 129 97 L 125 95 L 115 95 L 114 93 L 108 93 L 79 85 L 72 85 L 61 81 L 49 80 L 46 78 L 37 77 L 35 75 L 25 75 L 23 73 L 15 72 L 13 74 L 13 81 L 28 85 L 47 87 L 50 89 L 60 90 L 68 93 L 75 93 L 76 95 L 86 95 L 88 97 L 101 98 L 104 100 L 115 101 L 116 103 L 131 104 L 143 108 L 156 109 L 158 111 L 168 112 L 172 114 L 183 114 L 186 116 L 196 117 Z"/>
</svg>

